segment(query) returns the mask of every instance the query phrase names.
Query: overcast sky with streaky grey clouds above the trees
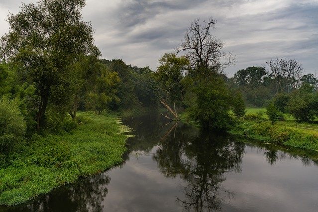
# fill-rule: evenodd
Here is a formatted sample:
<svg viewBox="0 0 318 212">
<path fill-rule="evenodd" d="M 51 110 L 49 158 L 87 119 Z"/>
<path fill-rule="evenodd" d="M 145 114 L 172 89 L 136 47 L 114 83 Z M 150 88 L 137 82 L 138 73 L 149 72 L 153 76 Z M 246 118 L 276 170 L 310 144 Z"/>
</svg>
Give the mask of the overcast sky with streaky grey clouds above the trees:
<svg viewBox="0 0 318 212">
<path fill-rule="evenodd" d="M 0 0 L 0 35 L 8 30 L 7 14 L 17 13 L 21 1 L 37 0 Z M 318 72 L 318 0 L 87 0 L 82 14 L 95 28 L 102 58 L 132 66 L 155 71 L 191 21 L 212 16 L 212 34 L 236 55 L 235 65 L 225 69 L 228 77 L 276 58 L 296 59 L 304 74 Z"/>
</svg>

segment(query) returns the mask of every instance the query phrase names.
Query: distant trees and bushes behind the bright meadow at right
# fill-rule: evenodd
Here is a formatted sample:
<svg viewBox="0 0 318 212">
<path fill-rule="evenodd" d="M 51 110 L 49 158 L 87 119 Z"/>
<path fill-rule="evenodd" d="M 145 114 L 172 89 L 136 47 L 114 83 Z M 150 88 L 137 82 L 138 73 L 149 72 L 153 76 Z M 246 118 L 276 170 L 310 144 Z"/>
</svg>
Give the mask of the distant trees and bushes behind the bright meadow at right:
<svg viewBox="0 0 318 212">
<path fill-rule="evenodd" d="M 289 113 L 302 122 L 318 117 L 318 79 L 314 74 L 303 74 L 303 68 L 295 59 L 276 59 L 264 67 L 248 67 L 226 78 L 232 88 L 243 95 L 245 104 L 254 107 L 270 107 L 277 116 Z"/>
</svg>

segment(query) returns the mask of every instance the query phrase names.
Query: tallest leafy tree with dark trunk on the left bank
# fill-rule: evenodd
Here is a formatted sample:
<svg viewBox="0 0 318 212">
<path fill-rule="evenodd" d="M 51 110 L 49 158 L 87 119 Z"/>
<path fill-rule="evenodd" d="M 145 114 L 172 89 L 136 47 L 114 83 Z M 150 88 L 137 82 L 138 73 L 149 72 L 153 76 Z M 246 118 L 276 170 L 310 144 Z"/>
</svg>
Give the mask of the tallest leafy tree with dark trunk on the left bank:
<svg viewBox="0 0 318 212">
<path fill-rule="evenodd" d="M 72 83 L 67 69 L 93 46 L 93 29 L 82 20 L 85 0 L 39 0 L 9 14 L 4 35 L 7 60 L 22 62 L 38 95 L 37 130 L 43 126 L 49 103 L 67 105 Z"/>
</svg>

